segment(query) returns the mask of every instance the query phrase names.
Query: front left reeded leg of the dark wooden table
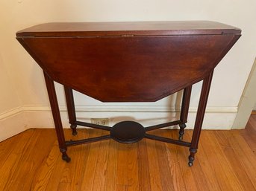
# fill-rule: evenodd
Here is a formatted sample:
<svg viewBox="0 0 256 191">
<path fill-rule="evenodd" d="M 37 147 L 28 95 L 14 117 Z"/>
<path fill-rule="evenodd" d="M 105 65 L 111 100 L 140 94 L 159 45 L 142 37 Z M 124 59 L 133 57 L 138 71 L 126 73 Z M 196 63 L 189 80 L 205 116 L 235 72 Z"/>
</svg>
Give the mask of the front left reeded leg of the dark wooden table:
<svg viewBox="0 0 256 191">
<path fill-rule="evenodd" d="M 68 155 L 66 155 L 66 143 L 65 143 L 65 137 L 63 132 L 63 126 L 60 118 L 60 109 L 57 104 L 57 96 L 54 88 L 54 81 L 51 80 L 51 78 L 48 76 L 48 74 L 46 74 L 46 72 L 43 72 L 43 74 L 46 80 L 46 88 L 49 95 L 52 117 L 54 120 L 54 126 L 57 134 L 57 140 L 59 143 L 60 152 L 62 153 L 62 159 L 66 162 L 69 162 L 70 158 Z"/>
</svg>

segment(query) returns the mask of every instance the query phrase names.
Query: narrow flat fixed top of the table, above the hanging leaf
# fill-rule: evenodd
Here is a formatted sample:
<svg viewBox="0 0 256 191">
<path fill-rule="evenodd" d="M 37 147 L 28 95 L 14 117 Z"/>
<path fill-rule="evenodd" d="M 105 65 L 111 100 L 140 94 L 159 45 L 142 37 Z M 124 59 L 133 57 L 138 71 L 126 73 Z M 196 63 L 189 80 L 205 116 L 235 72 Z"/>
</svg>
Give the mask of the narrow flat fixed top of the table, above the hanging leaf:
<svg viewBox="0 0 256 191">
<path fill-rule="evenodd" d="M 167 22 L 54 22 L 20 30 L 17 36 L 169 36 L 222 35 L 240 29 L 210 21 Z"/>
</svg>

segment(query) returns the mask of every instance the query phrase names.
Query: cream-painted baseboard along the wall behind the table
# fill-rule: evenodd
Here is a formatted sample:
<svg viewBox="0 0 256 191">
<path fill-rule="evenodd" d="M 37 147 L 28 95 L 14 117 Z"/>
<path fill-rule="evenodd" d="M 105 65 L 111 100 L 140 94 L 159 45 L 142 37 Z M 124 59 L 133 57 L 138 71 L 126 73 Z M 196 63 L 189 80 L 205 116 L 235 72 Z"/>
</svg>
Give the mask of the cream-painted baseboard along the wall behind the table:
<svg viewBox="0 0 256 191">
<path fill-rule="evenodd" d="M 135 120 L 143 126 L 166 123 L 178 119 L 177 106 L 76 106 L 78 120 L 109 118 L 110 126 L 122 120 Z M 193 129 L 196 106 L 190 107 L 187 129 Z M 64 128 L 69 128 L 66 106 L 60 106 Z M 203 129 L 231 129 L 237 107 L 207 107 Z M 16 135 L 28 128 L 53 128 L 49 106 L 22 106 L 0 114 L 0 140 Z M 172 128 L 177 128 L 174 126 Z"/>
</svg>

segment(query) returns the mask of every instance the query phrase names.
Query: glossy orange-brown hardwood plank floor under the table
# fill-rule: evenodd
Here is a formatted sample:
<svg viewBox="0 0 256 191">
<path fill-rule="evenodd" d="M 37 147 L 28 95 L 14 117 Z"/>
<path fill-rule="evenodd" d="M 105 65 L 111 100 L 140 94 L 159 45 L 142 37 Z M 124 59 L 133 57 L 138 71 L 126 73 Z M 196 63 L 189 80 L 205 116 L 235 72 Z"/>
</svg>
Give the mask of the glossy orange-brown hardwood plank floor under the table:
<svg viewBox="0 0 256 191">
<path fill-rule="evenodd" d="M 104 135 L 78 129 L 78 137 Z M 176 130 L 155 135 L 178 137 Z M 75 139 L 71 130 L 65 135 Z M 184 139 L 190 140 L 187 130 Z M 29 129 L 0 143 L 0 190 L 256 190 L 256 114 L 246 129 L 202 131 L 193 167 L 188 148 L 141 140 L 72 146 L 61 160 L 54 129 Z"/>
</svg>

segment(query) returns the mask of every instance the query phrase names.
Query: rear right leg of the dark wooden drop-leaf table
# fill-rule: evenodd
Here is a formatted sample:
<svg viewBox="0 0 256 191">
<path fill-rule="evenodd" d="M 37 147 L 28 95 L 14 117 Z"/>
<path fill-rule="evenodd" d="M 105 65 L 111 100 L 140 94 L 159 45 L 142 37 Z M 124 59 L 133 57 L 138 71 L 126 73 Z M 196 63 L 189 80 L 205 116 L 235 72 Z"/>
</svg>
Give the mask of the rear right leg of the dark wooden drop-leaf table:
<svg viewBox="0 0 256 191">
<path fill-rule="evenodd" d="M 182 104 L 181 104 L 181 117 L 180 117 L 181 124 L 178 125 L 180 126 L 179 137 L 178 137 L 179 140 L 183 139 L 184 129 L 186 128 L 187 114 L 190 107 L 191 89 L 192 89 L 192 85 L 188 86 L 187 88 L 184 88 L 183 90 Z"/>
</svg>

